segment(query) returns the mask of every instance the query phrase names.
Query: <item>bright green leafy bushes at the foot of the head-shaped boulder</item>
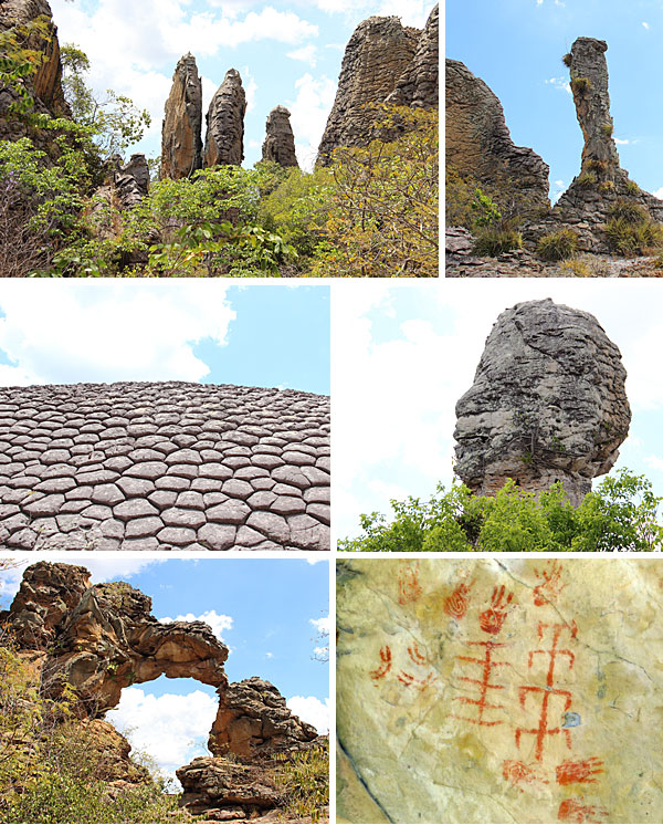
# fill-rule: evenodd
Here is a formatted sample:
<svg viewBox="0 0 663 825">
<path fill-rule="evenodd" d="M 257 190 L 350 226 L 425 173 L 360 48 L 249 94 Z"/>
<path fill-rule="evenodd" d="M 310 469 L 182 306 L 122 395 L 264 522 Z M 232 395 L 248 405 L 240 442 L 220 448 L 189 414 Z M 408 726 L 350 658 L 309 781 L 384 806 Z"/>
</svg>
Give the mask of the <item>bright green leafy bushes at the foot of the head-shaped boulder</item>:
<svg viewBox="0 0 663 825">
<path fill-rule="evenodd" d="M 339 542 L 349 552 L 661 550 L 663 525 L 643 476 L 621 470 L 585 497 L 578 508 L 561 483 L 538 497 L 513 480 L 494 497 L 474 497 L 464 484 L 439 485 L 428 502 L 392 501 L 394 518 L 361 516 L 364 534 Z"/>
</svg>

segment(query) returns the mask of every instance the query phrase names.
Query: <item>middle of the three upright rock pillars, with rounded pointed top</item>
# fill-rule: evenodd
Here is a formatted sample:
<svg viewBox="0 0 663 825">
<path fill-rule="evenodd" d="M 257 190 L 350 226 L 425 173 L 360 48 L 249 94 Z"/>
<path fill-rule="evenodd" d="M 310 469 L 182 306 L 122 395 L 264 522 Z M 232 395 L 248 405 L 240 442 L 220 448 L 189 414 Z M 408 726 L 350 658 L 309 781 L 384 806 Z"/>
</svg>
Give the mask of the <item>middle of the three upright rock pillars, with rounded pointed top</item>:
<svg viewBox="0 0 663 825">
<path fill-rule="evenodd" d="M 244 159 L 246 95 L 235 69 L 229 69 L 212 97 L 207 114 L 206 168 L 222 164 L 240 166 Z"/>
</svg>

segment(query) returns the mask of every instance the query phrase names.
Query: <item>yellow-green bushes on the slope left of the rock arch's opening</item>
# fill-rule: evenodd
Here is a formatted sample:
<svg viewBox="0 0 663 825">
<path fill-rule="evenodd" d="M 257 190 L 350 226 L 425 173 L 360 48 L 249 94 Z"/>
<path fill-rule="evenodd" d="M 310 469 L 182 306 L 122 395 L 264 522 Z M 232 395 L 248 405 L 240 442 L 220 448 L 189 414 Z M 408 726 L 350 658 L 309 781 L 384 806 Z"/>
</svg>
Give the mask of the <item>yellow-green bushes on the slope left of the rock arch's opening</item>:
<svg viewBox="0 0 663 825">
<path fill-rule="evenodd" d="M 0 639 L 0 822 L 185 822 L 159 781 L 108 793 L 103 749 L 67 686 L 45 698 L 36 670 Z M 137 770 L 137 775 L 139 771 Z"/>
</svg>

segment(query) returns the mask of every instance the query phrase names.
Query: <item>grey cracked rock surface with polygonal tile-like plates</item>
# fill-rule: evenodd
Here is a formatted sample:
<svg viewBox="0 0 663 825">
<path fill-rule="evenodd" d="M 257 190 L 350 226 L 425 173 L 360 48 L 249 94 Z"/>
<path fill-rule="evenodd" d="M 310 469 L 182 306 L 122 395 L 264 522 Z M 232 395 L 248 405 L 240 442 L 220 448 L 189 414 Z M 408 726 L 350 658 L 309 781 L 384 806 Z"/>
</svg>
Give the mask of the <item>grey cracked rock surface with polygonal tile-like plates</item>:
<svg viewBox="0 0 663 825">
<path fill-rule="evenodd" d="M 187 383 L 0 389 L 4 550 L 328 550 L 329 399 Z"/>
</svg>

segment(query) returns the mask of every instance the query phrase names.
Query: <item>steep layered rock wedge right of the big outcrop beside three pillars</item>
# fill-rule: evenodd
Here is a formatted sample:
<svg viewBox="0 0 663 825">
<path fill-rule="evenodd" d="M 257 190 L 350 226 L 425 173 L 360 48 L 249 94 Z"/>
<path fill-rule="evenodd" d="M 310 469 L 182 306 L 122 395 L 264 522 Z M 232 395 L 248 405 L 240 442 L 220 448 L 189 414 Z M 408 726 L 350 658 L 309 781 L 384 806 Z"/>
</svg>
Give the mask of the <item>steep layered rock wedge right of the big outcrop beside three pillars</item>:
<svg viewBox="0 0 663 825">
<path fill-rule="evenodd" d="M 440 102 L 440 7 L 429 14 L 412 62 L 385 101 L 390 106 L 438 108 Z"/>
</svg>

